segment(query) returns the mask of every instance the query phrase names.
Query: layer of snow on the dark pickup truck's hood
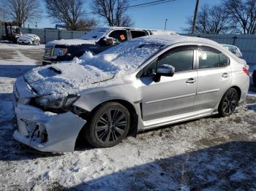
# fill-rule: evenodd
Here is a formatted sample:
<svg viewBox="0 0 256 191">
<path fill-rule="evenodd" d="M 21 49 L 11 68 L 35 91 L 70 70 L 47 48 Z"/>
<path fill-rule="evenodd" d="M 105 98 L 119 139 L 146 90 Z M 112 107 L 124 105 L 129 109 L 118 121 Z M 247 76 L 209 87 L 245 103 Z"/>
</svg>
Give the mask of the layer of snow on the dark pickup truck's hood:
<svg viewBox="0 0 256 191">
<path fill-rule="evenodd" d="M 81 44 L 95 44 L 96 42 L 93 40 L 83 40 L 83 39 L 61 39 L 61 40 L 54 40 L 48 42 L 46 46 L 53 46 L 53 45 L 81 45 Z"/>
</svg>

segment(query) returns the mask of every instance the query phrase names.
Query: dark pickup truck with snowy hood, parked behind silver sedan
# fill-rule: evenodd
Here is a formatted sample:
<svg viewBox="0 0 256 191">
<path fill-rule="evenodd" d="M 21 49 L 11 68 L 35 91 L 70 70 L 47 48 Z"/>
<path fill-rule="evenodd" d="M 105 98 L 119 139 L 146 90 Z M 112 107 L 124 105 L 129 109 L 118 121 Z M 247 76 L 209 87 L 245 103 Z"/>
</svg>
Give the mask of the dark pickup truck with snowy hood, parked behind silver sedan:
<svg viewBox="0 0 256 191">
<path fill-rule="evenodd" d="M 70 61 L 75 57 L 80 57 L 86 51 L 98 54 L 121 42 L 154 34 L 176 35 L 176 32 L 121 27 L 95 28 L 83 35 L 81 39 L 61 39 L 48 42 L 45 45 L 42 65 Z"/>
</svg>

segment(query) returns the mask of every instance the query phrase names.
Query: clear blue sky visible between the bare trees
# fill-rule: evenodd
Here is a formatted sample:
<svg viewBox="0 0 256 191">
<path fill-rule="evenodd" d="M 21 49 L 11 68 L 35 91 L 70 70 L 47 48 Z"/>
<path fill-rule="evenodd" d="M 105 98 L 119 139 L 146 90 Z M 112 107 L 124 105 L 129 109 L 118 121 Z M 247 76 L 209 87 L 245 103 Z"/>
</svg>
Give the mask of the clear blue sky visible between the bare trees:
<svg viewBox="0 0 256 191">
<path fill-rule="evenodd" d="M 86 12 L 90 12 L 89 2 L 87 0 L 85 4 Z M 150 2 L 153 0 L 129 0 L 130 5 Z M 151 7 L 143 7 L 137 9 L 129 9 L 128 13 L 135 21 L 135 27 L 137 28 L 152 28 L 152 29 L 164 29 L 165 19 L 167 19 L 167 30 L 182 32 L 182 28 L 185 28 L 187 17 L 193 15 L 195 9 L 196 0 L 176 0 L 165 4 L 158 4 Z M 200 6 L 203 4 L 218 4 L 221 0 L 200 0 Z M 42 19 L 33 20 L 30 22 L 30 27 L 34 28 L 35 21 L 39 28 L 55 27 L 53 19 L 48 17 L 45 10 L 45 4 L 42 4 Z M 89 15 L 94 17 L 94 15 Z M 105 23 L 100 23 L 100 26 L 105 26 Z"/>
</svg>

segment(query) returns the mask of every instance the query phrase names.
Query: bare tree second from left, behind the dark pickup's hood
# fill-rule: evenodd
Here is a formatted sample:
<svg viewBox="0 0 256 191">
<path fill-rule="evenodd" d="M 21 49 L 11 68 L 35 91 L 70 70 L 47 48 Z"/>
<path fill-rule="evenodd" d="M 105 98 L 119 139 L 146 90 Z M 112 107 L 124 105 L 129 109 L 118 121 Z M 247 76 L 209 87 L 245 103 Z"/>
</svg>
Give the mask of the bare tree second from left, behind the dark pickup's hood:
<svg viewBox="0 0 256 191">
<path fill-rule="evenodd" d="M 45 3 L 48 15 L 53 17 L 56 23 L 64 23 L 68 29 L 78 30 L 81 23 L 83 23 L 83 26 L 89 26 L 89 28 L 95 26 L 95 20 L 83 17 L 85 13 L 83 9 L 84 0 L 45 0 Z"/>
</svg>

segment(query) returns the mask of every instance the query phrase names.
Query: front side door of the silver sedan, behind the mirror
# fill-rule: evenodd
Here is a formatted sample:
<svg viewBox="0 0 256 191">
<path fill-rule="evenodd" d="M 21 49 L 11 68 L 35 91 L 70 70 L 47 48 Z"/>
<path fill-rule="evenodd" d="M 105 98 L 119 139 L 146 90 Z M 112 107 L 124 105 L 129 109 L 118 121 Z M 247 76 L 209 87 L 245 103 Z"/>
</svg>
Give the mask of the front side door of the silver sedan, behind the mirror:
<svg viewBox="0 0 256 191">
<path fill-rule="evenodd" d="M 197 87 L 194 53 L 194 46 L 176 47 L 144 68 L 140 78 L 143 120 L 192 112 Z M 176 72 L 173 77 L 161 77 L 159 82 L 154 82 L 154 73 L 163 64 L 173 66 Z"/>
</svg>

